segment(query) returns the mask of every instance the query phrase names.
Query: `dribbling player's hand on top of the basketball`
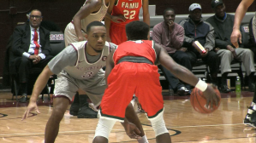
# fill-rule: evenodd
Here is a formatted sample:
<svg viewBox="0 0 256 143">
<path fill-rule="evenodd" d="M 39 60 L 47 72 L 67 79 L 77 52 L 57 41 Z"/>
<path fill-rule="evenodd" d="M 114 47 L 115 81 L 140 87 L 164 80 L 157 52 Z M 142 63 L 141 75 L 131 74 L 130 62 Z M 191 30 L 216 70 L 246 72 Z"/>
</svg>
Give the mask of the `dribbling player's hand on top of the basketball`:
<svg viewBox="0 0 256 143">
<path fill-rule="evenodd" d="M 215 103 L 215 106 L 218 105 L 219 98 L 217 94 L 215 93 L 215 90 L 217 87 L 213 84 L 208 84 L 207 89 L 204 92 L 205 99 L 206 99 L 206 106 L 208 107 L 211 103 L 211 108 L 213 107 L 213 102 Z"/>
</svg>

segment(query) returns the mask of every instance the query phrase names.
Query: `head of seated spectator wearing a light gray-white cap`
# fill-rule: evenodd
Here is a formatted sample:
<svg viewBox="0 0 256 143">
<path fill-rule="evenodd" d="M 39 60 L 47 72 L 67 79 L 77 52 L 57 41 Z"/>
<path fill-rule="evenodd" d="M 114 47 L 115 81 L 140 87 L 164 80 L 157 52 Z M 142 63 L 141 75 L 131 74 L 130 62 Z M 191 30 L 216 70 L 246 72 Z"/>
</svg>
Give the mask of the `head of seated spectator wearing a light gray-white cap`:
<svg viewBox="0 0 256 143">
<path fill-rule="evenodd" d="M 189 6 L 189 17 L 193 22 L 198 23 L 202 17 L 202 8 L 199 3 L 193 3 Z"/>
</svg>

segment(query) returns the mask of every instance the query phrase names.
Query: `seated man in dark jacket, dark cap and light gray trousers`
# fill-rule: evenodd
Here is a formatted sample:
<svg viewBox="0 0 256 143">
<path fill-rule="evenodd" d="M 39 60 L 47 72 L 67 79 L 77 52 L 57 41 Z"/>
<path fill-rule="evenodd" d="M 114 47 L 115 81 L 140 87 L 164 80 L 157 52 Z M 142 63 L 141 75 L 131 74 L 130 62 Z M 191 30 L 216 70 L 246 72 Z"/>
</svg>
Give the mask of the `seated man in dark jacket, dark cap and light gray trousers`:
<svg viewBox="0 0 256 143">
<path fill-rule="evenodd" d="M 250 49 L 235 48 L 230 42 L 230 36 L 233 31 L 235 16 L 227 14 L 225 12 L 225 4 L 222 0 L 211 1 L 211 8 L 215 12 L 215 15 L 208 18 L 211 26 L 214 27 L 215 33 L 215 51 L 217 55 L 221 57 L 221 73 L 222 73 L 222 92 L 229 92 L 230 89 L 227 87 L 228 73 L 231 72 L 231 61 L 236 59 L 242 61 L 245 66 L 245 70 L 248 78 L 248 86 L 250 91 L 255 90 L 253 75 L 255 72 L 253 52 Z"/>
</svg>

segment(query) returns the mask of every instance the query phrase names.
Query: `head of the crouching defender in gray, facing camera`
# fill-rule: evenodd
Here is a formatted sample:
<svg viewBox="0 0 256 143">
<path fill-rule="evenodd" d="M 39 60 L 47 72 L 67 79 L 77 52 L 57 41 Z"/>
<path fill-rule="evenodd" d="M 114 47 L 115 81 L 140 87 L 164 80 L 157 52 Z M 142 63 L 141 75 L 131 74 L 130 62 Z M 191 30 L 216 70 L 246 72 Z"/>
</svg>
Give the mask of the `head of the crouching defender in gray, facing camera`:
<svg viewBox="0 0 256 143">
<path fill-rule="evenodd" d="M 86 27 L 88 45 L 95 52 L 101 53 L 106 41 L 106 28 L 103 23 L 93 21 Z"/>
</svg>

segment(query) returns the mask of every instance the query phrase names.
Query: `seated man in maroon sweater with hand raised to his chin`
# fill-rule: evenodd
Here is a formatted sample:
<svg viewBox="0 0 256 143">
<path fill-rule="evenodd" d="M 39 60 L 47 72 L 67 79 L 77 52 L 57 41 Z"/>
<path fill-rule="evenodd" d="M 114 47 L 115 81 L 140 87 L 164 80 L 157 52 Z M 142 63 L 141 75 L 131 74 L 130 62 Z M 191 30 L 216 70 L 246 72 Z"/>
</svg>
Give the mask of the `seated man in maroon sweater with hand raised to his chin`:
<svg viewBox="0 0 256 143">
<path fill-rule="evenodd" d="M 152 39 L 155 43 L 163 46 L 173 60 L 191 71 L 192 66 L 188 59 L 188 54 L 182 49 L 184 28 L 174 22 L 175 18 L 176 14 L 174 9 L 165 9 L 164 21 L 154 26 Z M 174 89 L 176 89 L 176 93 L 179 95 L 190 94 L 191 89 L 188 83 L 183 83 L 171 74 L 170 71 L 166 70 L 164 66 L 161 67 L 162 72 L 164 72 L 164 77 L 169 82 L 170 95 L 174 94 Z"/>
</svg>

